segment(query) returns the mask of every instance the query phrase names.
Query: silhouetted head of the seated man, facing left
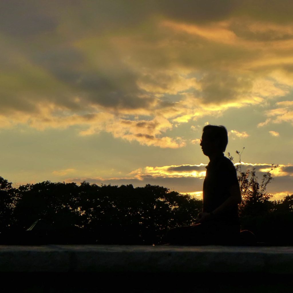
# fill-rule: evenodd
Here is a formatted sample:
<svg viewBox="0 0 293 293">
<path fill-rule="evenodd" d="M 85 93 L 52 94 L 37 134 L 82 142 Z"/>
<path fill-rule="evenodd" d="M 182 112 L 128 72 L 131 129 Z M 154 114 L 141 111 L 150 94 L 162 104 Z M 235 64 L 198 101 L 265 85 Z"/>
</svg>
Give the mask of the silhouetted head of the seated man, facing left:
<svg viewBox="0 0 293 293">
<path fill-rule="evenodd" d="M 206 125 L 202 129 L 201 147 L 206 156 L 224 152 L 228 144 L 228 132 L 223 125 Z"/>
</svg>

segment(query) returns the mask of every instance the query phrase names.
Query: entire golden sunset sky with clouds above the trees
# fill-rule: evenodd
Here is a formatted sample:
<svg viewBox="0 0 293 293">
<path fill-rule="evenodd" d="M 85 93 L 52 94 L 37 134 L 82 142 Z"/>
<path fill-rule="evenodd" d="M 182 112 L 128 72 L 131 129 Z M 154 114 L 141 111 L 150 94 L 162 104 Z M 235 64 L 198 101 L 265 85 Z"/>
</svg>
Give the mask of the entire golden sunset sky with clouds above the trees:
<svg viewBox="0 0 293 293">
<path fill-rule="evenodd" d="M 202 197 L 202 127 L 293 193 L 291 0 L 0 2 L 0 176 Z"/>
</svg>

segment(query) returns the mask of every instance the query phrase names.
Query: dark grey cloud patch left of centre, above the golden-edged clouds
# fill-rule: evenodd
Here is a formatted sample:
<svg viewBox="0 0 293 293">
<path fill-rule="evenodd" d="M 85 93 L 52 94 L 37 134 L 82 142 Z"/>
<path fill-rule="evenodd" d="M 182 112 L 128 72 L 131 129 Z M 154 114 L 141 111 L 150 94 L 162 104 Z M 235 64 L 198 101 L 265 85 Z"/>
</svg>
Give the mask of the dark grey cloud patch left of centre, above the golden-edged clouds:
<svg viewBox="0 0 293 293">
<path fill-rule="evenodd" d="M 135 83 L 137 76 L 117 58 L 110 61 L 114 69 L 107 68 L 106 64 L 103 65 L 105 60 L 101 60 L 99 70 L 88 69 L 89 64 L 83 53 L 73 47 L 45 50 L 33 54 L 31 59 L 68 85 L 85 102 L 104 107 L 137 109 L 148 108 L 149 103 L 154 101 L 151 97 L 138 97 L 143 92 Z M 58 101 L 67 103 L 60 99 Z"/>
</svg>

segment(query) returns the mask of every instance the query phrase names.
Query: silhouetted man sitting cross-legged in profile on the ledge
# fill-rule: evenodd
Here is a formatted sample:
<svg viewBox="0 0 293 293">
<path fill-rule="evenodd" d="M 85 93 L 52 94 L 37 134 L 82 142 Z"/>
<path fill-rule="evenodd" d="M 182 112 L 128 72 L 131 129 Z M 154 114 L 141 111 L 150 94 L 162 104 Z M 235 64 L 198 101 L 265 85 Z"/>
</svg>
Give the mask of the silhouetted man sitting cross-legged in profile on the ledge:
<svg viewBox="0 0 293 293">
<path fill-rule="evenodd" d="M 206 125 L 200 146 L 209 157 L 203 183 L 203 209 L 193 226 L 173 228 L 167 233 L 171 244 L 231 244 L 239 236 L 238 204 L 241 193 L 233 163 L 224 156 L 228 133 L 224 126 Z"/>
</svg>

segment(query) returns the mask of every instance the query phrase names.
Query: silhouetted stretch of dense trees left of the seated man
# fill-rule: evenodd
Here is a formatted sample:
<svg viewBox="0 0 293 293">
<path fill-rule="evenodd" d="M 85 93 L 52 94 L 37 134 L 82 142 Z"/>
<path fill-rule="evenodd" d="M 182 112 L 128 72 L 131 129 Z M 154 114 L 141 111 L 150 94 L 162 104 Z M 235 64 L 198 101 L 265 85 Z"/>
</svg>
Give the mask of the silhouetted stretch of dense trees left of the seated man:
<svg viewBox="0 0 293 293">
<path fill-rule="evenodd" d="M 202 209 L 201 200 L 149 184 L 134 188 L 44 181 L 14 189 L 1 180 L 1 231 L 24 231 L 42 219 L 50 223 L 51 236 L 53 230 L 59 236 L 60 231 L 74 231 L 76 237 L 83 231 L 95 243 L 152 244 L 168 229 L 192 224 Z"/>
</svg>

